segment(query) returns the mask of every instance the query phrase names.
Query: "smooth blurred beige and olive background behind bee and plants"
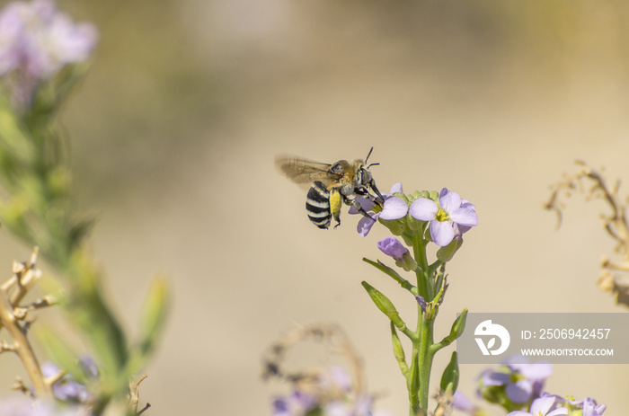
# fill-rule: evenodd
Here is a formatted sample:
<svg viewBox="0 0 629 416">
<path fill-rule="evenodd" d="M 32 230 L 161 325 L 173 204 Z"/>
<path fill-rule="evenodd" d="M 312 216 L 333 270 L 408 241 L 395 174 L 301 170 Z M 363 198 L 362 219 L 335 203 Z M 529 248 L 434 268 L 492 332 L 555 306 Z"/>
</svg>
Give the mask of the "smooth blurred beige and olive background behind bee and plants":
<svg viewBox="0 0 629 416">
<path fill-rule="evenodd" d="M 384 230 L 361 238 L 346 213 L 339 229 L 315 228 L 305 192 L 275 171 L 277 154 L 333 162 L 374 146 L 381 190 L 447 186 L 475 204 L 480 225 L 449 266 L 438 334 L 463 307 L 625 312 L 595 286 L 599 256 L 613 248 L 602 203 L 571 199 L 559 232 L 542 205 L 575 158 L 629 178 L 626 2 L 60 6 L 102 31 L 65 120 L 77 204 L 101 217 L 93 252 L 128 328 L 149 279 L 172 281 L 141 390 L 148 414 L 270 414 L 270 394 L 287 386 L 261 382 L 262 352 L 315 321 L 349 333 L 369 388 L 385 392 L 377 408 L 408 412 L 388 323 L 360 287 L 367 279 L 412 321 L 411 299 L 361 261 L 383 259 Z M 0 242 L 8 272 L 28 248 L 5 233 Z M 473 394 L 480 369 L 462 366 L 461 390 Z M 548 390 L 623 414 L 628 366 L 554 371 Z"/>
</svg>

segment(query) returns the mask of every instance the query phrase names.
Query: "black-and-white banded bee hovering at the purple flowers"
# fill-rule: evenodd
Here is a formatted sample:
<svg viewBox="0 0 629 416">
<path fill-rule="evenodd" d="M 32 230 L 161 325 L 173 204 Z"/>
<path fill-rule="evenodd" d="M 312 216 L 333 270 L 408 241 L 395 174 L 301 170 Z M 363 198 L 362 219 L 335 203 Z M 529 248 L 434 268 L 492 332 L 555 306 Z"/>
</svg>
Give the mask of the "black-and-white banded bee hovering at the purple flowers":
<svg viewBox="0 0 629 416">
<path fill-rule="evenodd" d="M 359 202 L 351 197 L 360 195 L 378 204 L 385 200 L 369 172 L 369 168 L 377 164 L 367 165 L 372 150 L 373 147 L 364 161 L 356 159 L 352 163 L 340 160 L 334 164 L 322 164 L 297 157 L 279 156 L 275 164 L 291 181 L 311 183 L 306 197 L 306 212 L 310 221 L 319 228 L 327 229 L 334 217 L 336 228 L 341 225 L 343 202 L 352 205 L 363 216 L 370 217 Z M 369 190 L 373 190 L 377 198 Z"/>
</svg>

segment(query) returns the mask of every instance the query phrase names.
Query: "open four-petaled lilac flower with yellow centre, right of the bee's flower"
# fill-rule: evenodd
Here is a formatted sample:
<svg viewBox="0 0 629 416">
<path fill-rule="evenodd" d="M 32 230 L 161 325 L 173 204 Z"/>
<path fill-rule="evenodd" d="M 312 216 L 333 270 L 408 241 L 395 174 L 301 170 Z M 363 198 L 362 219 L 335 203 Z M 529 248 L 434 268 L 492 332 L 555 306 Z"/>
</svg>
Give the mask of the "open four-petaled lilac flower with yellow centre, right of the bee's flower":
<svg viewBox="0 0 629 416">
<path fill-rule="evenodd" d="M 415 199 L 409 212 L 415 219 L 430 221 L 430 237 L 441 247 L 449 244 L 455 235 L 478 225 L 474 205 L 447 188 L 439 192 L 439 206 L 432 199 L 420 198 Z"/>
</svg>

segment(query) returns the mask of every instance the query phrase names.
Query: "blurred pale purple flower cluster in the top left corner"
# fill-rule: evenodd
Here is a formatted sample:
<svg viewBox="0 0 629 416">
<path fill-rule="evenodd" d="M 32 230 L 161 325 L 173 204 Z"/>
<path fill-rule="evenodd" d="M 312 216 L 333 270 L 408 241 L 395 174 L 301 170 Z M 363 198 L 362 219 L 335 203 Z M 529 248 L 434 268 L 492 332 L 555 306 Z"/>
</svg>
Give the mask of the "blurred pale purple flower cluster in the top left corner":
<svg viewBox="0 0 629 416">
<path fill-rule="evenodd" d="M 9 3 L 0 12 L 0 76 L 20 75 L 13 94 L 28 102 L 40 80 L 87 60 L 97 38 L 93 25 L 74 24 L 52 0 Z"/>
</svg>

